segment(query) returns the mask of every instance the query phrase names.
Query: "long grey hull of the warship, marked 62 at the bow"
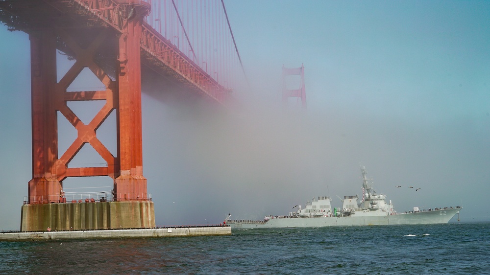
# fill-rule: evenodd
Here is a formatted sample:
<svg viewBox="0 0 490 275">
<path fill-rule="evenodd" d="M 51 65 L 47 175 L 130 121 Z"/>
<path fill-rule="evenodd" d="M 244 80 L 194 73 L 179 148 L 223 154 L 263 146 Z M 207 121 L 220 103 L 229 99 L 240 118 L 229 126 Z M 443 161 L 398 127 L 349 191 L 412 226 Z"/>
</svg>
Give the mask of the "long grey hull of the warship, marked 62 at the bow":
<svg viewBox="0 0 490 275">
<path fill-rule="evenodd" d="M 415 225 L 447 224 L 462 208 L 400 213 L 384 216 L 349 217 L 280 217 L 268 221 L 229 220 L 226 224 L 232 229 L 254 228 L 301 228 L 330 226 L 376 226 L 376 225 Z"/>
</svg>

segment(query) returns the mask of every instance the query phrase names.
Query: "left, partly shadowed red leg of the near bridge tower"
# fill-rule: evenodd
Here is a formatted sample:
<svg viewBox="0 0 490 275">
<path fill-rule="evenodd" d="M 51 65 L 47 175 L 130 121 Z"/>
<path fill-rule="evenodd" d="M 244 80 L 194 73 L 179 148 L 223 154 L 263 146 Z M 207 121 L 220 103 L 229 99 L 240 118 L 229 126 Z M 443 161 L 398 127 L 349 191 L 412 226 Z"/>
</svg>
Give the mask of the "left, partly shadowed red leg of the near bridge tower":
<svg viewBox="0 0 490 275">
<path fill-rule="evenodd" d="M 29 36 L 31 43 L 32 180 L 29 203 L 58 202 L 61 183 L 56 175 L 58 159 L 55 109 L 56 36 L 42 30 Z"/>
</svg>

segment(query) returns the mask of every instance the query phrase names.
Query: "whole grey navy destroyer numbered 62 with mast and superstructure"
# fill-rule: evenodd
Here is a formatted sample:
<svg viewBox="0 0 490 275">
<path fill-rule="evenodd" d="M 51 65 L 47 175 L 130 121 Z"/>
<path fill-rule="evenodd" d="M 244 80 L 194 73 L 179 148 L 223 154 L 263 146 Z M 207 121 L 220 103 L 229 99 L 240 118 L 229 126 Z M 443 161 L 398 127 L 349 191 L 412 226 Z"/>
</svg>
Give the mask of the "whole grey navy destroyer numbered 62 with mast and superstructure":
<svg viewBox="0 0 490 275">
<path fill-rule="evenodd" d="M 297 208 L 287 216 L 266 216 L 264 220 L 228 220 L 226 225 L 232 229 L 253 228 L 294 228 L 328 226 L 368 226 L 368 225 L 412 225 L 446 224 L 462 209 L 460 206 L 420 209 L 414 207 L 406 212 L 396 212 L 392 201 L 386 202 L 386 196 L 377 194 L 372 181 L 367 177 L 366 167 L 361 167 L 363 195 L 344 196 L 343 206 L 331 206 L 330 197 L 313 198 L 304 208 Z M 397 186 L 400 187 L 400 186 Z M 412 188 L 412 187 L 410 187 Z"/>
</svg>

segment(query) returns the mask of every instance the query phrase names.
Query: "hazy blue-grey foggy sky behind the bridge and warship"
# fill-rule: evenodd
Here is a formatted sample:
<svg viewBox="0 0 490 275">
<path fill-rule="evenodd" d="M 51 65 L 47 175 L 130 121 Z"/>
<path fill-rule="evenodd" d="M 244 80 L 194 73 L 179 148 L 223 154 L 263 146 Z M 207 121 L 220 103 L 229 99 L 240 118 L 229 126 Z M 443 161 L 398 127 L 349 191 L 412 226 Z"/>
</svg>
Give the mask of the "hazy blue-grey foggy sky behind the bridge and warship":
<svg viewBox="0 0 490 275">
<path fill-rule="evenodd" d="M 360 163 L 395 210 L 460 205 L 462 221 L 490 220 L 489 1 L 225 4 L 251 86 L 235 92 L 243 108 L 143 95 L 158 226 L 284 215 L 313 196 L 339 207 L 336 195 L 361 194 Z M 0 27 L 0 52 L 0 229 L 16 229 L 32 177 L 27 35 Z M 301 64 L 307 112 L 283 112 L 281 67 Z M 79 180 L 64 185 L 112 183 Z"/>
</svg>

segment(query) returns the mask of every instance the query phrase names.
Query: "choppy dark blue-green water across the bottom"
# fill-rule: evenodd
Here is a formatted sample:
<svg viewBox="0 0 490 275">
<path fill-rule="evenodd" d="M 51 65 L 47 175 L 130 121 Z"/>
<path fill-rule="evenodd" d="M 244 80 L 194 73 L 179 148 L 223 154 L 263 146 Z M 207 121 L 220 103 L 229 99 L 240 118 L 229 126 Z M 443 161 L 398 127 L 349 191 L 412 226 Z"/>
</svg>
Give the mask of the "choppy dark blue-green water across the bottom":
<svg viewBox="0 0 490 275">
<path fill-rule="evenodd" d="M 0 242 L 0 274 L 490 274 L 490 223 Z"/>
</svg>

